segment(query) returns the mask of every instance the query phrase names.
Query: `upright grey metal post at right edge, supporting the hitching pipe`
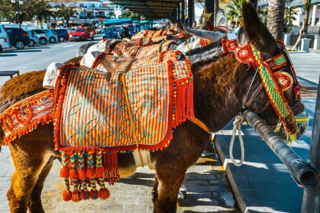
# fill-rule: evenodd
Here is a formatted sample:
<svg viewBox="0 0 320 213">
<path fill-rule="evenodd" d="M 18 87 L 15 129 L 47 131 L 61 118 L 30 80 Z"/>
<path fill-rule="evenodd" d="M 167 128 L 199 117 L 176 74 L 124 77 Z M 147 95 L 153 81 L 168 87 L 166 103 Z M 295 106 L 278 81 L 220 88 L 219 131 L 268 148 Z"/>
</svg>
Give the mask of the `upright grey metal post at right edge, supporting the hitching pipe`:
<svg viewBox="0 0 320 213">
<path fill-rule="evenodd" d="M 320 81 L 320 80 L 319 80 Z M 319 172 L 320 170 L 320 87 L 318 87 L 316 110 L 313 121 L 312 136 L 307 163 Z M 320 212 L 319 180 L 315 187 L 306 187 L 303 191 L 301 213 Z"/>
</svg>

